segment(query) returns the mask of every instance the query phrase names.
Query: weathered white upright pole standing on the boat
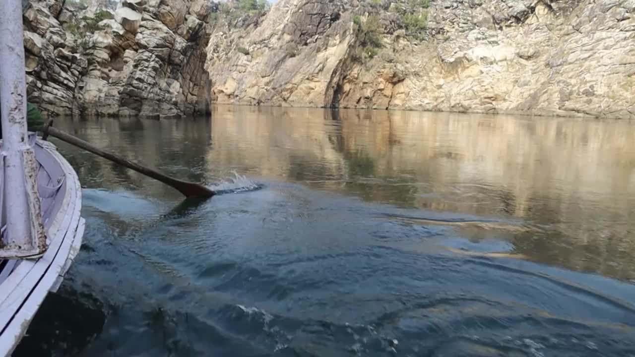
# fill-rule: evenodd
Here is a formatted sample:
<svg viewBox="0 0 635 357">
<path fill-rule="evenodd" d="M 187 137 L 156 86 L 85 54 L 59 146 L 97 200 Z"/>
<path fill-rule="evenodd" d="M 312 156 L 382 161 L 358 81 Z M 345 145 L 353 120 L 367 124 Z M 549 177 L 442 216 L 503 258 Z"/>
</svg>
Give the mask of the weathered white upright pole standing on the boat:
<svg viewBox="0 0 635 357">
<path fill-rule="evenodd" d="M 4 207 L 10 255 L 41 253 L 39 199 L 33 202 L 34 154 L 27 135 L 22 1 L 0 0 L 0 104 L 4 155 Z M 36 188 L 37 189 L 37 188 Z M 36 196 L 37 197 L 37 196 Z M 37 212 L 33 212 L 33 211 Z M 35 224 L 34 224 L 35 223 Z M 39 226 L 39 227 L 38 227 Z M 40 231 L 40 232 L 37 232 Z M 35 239 L 34 239 L 35 238 Z M 44 245 L 46 239 L 44 239 Z M 3 252 L 7 255 L 10 252 Z"/>
</svg>

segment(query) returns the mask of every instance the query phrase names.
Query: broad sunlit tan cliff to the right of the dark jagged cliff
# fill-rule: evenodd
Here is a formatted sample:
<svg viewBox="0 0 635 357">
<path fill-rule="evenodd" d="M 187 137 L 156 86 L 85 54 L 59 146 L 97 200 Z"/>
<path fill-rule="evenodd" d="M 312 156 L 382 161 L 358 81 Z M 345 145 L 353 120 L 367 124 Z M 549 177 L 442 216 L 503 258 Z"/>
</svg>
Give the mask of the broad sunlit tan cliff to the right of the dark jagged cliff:
<svg viewBox="0 0 635 357">
<path fill-rule="evenodd" d="M 215 25 L 221 103 L 635 118 L 635 0 L 279 0 Z"/>
</svg>

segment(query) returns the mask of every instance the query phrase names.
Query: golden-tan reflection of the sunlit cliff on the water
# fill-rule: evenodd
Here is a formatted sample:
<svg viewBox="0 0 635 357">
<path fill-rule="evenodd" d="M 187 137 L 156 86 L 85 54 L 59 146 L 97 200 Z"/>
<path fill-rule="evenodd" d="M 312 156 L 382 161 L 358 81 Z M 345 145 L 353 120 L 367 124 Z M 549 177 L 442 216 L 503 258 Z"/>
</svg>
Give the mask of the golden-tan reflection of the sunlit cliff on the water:
<svg viewBox="0 0 635 357">
<path fill-rule="evenodd" d="M 216 107 L 208 166 L 401 206 L 518 217 L 531 259 L 635 278 L 635 125 Z M 486 235 L 485 235 L 486 236 Z"/>
</svg>

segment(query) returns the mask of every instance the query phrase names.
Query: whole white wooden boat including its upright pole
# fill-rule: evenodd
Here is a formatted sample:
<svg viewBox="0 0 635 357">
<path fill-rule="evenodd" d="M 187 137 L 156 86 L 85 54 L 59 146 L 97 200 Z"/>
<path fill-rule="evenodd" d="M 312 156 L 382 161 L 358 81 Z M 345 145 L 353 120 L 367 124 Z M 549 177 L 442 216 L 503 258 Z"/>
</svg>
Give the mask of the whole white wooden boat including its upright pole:
<svg viewBox="0 0 635 357">
<path fill-rule="evenodd" d="M 77 173 L 27 132 L 22 1 L 0 0 L 0 356 L 57 290 L 84 233 Z"/>
</svg>

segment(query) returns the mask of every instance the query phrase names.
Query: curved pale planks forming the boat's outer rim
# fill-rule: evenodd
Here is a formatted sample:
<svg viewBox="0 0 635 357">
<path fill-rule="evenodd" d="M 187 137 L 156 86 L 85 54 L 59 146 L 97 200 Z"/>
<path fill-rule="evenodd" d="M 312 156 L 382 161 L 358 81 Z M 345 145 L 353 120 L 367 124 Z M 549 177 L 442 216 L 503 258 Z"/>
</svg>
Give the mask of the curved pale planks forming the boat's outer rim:
<svg viewBox="0 0 635 357">
<path fill-rule="evenodd" d="M 8 279 L 2 282 L 0 291 L 8 295 L 0 302 L 0 356 L 8 356 L 26 332 L 37 308 L 44 297 L 56 290 L 74 258 L 84 231 L 81 219 L 81 186 L 70 164 L 54 145 L 38 142 L 37 145 L 54 159 L 65 175 L 64 201 L 50 224 L 51 242 L 43 257 L 38 260 L 23 260 Z M 40 156 L 42 158 L 42 156 Z M 40 161 L 51 170 L 51 162 Z M 48 225 L 47 225 L 48 226 Z"/>
</svg>

